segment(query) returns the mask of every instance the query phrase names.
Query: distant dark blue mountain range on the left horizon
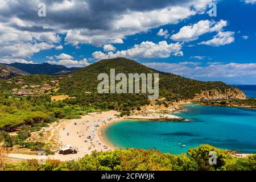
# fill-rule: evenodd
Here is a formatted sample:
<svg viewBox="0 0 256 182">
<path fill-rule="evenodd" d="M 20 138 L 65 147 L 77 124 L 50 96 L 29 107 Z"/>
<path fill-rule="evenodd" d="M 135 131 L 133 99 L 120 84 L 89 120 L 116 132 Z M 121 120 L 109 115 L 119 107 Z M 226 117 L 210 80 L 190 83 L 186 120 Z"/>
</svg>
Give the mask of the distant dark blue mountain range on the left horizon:
<svg viewBox="0 0 256 182">
<path fill-rule="evenodd" d="M 22 75 L 65 75 L 77 71 L 80 68 L 67 68 L 63 65 L 43 64 L 24 64 L 11 63 L 0 64 L 0 78 L 11 78 Z"/>
</svg>

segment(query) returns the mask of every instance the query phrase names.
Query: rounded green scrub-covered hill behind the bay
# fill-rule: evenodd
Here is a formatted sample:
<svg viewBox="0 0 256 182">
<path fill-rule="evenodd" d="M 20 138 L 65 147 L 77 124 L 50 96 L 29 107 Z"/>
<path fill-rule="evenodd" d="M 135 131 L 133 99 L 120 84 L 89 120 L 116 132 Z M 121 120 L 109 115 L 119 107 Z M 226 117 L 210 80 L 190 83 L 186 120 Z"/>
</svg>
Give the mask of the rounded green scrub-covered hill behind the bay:
<svg viewBox="0 0 256 182">
<path fill-rule="evenodd" d="M 243 94 L 237 88 L 226 85 L 224 82 L 203 82 L 192 80 L 172 73 L 159 72 L 137 63 L 136 61 L 125 58 L 101 60 L 74 72 L 61 82 L 59 92 L 69 94 L 71 96 L 84 95 L 85 92 L 97 94 L 97 85 L 100 82 L 97 81 L 97 76 L 100 73 L 107 73 L 110 75 L 110 69 L 115 69 L 115 75 L 118 73 L 125 73 L 126 75 L 128 73 L 159 73 L 160 96 L 166 98 L 167 101 L 193 99 L 197 94 L 207 92 L 208 90 L 215 90 L 218 94 L 223 94 L 225 96 L 228 94 L 228 90 L 230 94 L 233 95 L 236 94 L 236 92 Z M 216 94 L 216 92 L 209 94 Z M 97 95 L 102 98 L 103 101 L 113 97 L 111 96 L 112 94 L 108 94 L 108 96 L 104 94 Z M 134 96 L 138 97 L 141 96 L 141 94 L 134 94 L 133 97 Z"/>
</svg>

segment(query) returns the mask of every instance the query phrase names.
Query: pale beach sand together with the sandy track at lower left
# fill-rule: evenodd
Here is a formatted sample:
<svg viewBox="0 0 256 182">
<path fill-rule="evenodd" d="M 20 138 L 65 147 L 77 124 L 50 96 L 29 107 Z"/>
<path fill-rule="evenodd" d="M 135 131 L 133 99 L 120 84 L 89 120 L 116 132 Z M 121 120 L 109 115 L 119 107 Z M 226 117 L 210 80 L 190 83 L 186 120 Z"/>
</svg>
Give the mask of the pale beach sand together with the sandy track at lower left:
<svg viewBox="0 0 256 182">
<path fill-rule="evenodd" d="M 89 113 L 82 116 L 81 119 L 71 119 L 64 122 L 60 122 L 58 126 L 55 126 L 59 130 L 59 143 L 61 146 L 71 145 L 73 148 L 77 148 L 77 154 L 55 154 L 49 155 L 46 159 L 58 159 L 58 160 L 73 160 L 82 158 L 86 154 L 91 154 L 92 151 L 108 151 L 113 150 L 114 146 L 104 138 L 104 128 L 114 122 L 122 121 L 123 118 L 117 118 L 115 114 L 117 111 L 105 111 L 102 113 Z M 112 121 L 108 119 L 112 118 Z M 76 122 L 76 125 L 75 125 Z M 98 125 L 98 127 L 96 127 Z M 91 139 L 88 139 L 88 136 Z M 106 147 L 104 147 L 106 146 Z M 9 158 L 14 159 L 38 159 L 37 155 L 26 154 L 9 154 Z"/>
</svg>

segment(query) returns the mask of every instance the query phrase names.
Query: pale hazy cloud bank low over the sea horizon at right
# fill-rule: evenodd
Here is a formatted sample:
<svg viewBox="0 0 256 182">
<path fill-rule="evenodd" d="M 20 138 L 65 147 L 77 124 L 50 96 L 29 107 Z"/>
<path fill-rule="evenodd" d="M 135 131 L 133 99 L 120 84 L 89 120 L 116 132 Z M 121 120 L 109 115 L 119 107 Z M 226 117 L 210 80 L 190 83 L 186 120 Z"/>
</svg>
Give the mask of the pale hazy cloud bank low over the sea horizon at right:
<svg viewBox="0 0 256 182">
<path fill-rule="evenodd" d="M 187 64 L 186 64 L 187 63 Z M 238 64 L 229 63 L 222 64 L 220 62 L 208 63 L 207 66 L 199 66 L 197 64 L 189 64 L 189 62 L 181 63 L 142 63 L 147 67 L 154 68 L 159 71 L 170 72 L 176 75 L 196 78 L 201 80 L 216 80 L 221 78 L 227 82 L 234 82 L 241 77 L 256 78 L 256 63 Z M 246 80 L 243 80 L 246 81 Z"/>
</svg>

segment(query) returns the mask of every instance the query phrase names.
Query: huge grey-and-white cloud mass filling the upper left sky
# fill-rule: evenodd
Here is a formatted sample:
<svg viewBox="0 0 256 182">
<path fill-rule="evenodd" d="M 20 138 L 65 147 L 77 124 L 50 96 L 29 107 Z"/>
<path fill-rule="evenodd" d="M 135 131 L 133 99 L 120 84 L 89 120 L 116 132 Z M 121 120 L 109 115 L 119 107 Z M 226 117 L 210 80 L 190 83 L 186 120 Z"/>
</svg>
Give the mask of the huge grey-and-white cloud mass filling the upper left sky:
<svg viewBox="0 0 256 182">
<path fill-rule="evenodd" d="M 122 44 L 128 35 L 201 13 L 212 1 L 44 0 L 47 18 L 39 18 L 38 0 L 1 0 L 0 57 L 24 59 L 46 49 L 63 49 L 57 46 L 58 34 L 77 47 Z"/>
</svg>

